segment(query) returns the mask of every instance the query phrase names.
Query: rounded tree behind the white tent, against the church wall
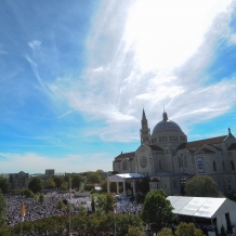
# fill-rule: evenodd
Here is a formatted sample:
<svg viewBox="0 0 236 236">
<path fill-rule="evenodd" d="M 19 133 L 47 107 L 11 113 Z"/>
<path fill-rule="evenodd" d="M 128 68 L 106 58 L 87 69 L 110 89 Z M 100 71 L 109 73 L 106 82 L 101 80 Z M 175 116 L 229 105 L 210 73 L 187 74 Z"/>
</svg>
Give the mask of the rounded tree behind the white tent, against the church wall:
<svg viewBox="0 0 236 236">
<path fill-rule="evenodd" d="M 197 175 L 185 184 L 186 196 L 218 197 L 217 183 L 208 175 Z"/>
</svg>

